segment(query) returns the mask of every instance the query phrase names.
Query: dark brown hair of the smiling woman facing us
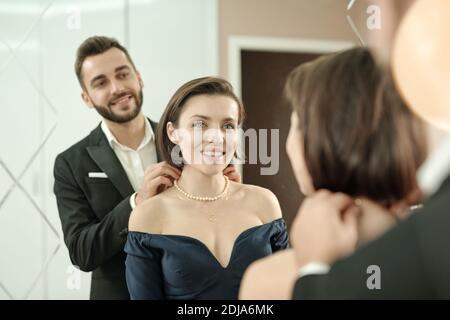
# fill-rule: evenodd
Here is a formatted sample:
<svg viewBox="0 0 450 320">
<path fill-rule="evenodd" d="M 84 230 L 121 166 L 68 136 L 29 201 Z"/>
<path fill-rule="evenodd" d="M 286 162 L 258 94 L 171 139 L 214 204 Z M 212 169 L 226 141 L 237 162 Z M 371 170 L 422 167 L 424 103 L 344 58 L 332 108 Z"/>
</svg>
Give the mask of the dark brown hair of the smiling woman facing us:
<svg viewBox="0 0 450 320">
<path fill-rule="evenodd" d="M 198 95 L 218 95 L 230 97 L 236 101 L 239 108 L 239 125 L 242 124 L 245 118 L 245 110 L 242 102 L 234 94 L 232 85 L 221 78 L 215 77 L 203 77 L 191 80 L 183 84 L 172 96 L 167 104 L 161 120 L 158 124 L 156 133 L 156 145 L 159 154 L 170 165 L 181 167 L 181 164 L 174 163 L 171 154 L 175 144 L 170 141 L 167 135 L 166 127 L 168 122 L 172 122 L 174 126 L 177 126 L 177 121 L 180 118 L 180 114 L 183 110 L 183 106 L 189 98 Z"/>
</svg>

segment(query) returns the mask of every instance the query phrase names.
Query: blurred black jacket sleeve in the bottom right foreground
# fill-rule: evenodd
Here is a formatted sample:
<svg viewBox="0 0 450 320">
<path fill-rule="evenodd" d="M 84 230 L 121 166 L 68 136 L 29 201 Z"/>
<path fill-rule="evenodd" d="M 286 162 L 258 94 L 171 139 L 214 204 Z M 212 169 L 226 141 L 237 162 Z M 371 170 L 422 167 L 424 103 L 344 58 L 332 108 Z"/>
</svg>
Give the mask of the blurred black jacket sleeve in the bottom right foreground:
<svg viewBox="0 0 450 320">
<path fill-rule="evenodd" d="M 424 208 L 338 261 L 327 275 L 297 280 L 294 299 L 450 299 L 450 177 Z M 370 265 L 381 289 L 368 289 Z M 371 281 L 369 281 L 371 282 Z"/>
</svg>

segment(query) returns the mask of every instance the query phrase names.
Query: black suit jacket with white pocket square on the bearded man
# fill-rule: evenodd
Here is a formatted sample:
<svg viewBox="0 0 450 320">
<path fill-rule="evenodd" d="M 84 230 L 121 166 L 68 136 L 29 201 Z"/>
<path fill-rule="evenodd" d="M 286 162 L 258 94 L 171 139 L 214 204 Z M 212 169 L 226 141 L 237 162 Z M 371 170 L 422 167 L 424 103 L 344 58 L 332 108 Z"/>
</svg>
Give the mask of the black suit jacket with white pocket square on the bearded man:
<svg viewBox="0 0 450 320">
<path fill-rule="evenodd" d="M 156 133 L 157 124 L 150 124 Z M 89 172 L 108 178 L 89 178 Z M 123 249 L 134 190 L 100 125 L 56 157 L 54 176 L 70 259 L 93 271 L 90 298 L 129 299 Z"/>
</svg>

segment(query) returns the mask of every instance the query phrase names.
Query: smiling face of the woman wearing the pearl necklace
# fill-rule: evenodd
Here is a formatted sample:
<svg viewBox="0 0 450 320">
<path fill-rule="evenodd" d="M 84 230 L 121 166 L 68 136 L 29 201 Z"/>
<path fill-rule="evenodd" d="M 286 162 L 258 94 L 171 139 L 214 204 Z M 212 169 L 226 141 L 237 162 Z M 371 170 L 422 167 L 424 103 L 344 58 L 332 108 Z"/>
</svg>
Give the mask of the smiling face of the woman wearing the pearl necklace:
<svg viewBox="0 0 450 320">
<path fill-rule="evenodd" d="M 232 98 L 197 95 L 185 102 L 176 127 L 167 124 L 167 133 L 180 147 L 185 166 L 217 174 L 227 167 L 236 151 L 238 121 L 239 107 Z"/>
</svg>

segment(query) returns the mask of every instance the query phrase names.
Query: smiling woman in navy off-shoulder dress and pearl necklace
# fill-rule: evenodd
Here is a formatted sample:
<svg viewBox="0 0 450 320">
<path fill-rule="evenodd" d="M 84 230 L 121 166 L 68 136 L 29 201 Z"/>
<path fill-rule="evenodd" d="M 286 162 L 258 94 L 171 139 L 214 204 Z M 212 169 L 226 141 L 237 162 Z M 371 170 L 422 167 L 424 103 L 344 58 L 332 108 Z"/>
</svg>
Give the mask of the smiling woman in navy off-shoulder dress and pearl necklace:
<svg viewBox="0 0 450 320">
<path fill-rule="evenodd" d="M 223 175 L 243 118 L 242 103 L 219 78 L 192 80 L 171 98 L 157 145 L 182 173 L 131 214 L 125 252 L 132 299 L 237 299 L 248 265 L 287 247 L 276 197 Z"/>
</svg>

